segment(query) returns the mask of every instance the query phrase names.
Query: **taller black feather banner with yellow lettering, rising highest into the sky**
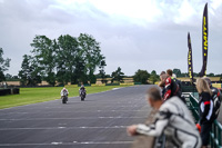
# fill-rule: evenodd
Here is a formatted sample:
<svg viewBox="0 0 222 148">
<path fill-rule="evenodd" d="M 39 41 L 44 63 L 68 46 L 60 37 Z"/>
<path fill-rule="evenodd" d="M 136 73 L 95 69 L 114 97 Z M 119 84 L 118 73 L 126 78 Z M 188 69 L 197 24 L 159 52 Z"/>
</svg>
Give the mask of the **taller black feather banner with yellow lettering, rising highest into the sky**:
<svg viewBox="0 0 222 148">
<path fill-rule="evenodd" d="M 208 62 L 208 3 L 203 10 L 203 22 L 202 22 L 202 56 L 203 56 L 203 66 L 200 72 L 200 77 L 206 76 L 206 62 Z"/>
</svg>

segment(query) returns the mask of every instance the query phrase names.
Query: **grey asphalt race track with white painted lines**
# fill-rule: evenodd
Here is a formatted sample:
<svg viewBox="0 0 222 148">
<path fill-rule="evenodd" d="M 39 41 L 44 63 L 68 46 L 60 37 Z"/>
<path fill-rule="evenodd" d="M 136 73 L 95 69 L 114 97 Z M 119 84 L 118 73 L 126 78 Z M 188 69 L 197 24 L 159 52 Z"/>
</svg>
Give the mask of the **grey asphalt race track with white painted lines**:
<svg viewBox="0 0 222 148">
<path fill-rule="evenodd" d="M 144 122 L 149 86 L 0 110 L 0 147 L 129 148 L 125 127 Z M 71 90 L 69 90 L 71 91 Z M 59 92 L 58 92 L 59 93 Z"/>
</svg>

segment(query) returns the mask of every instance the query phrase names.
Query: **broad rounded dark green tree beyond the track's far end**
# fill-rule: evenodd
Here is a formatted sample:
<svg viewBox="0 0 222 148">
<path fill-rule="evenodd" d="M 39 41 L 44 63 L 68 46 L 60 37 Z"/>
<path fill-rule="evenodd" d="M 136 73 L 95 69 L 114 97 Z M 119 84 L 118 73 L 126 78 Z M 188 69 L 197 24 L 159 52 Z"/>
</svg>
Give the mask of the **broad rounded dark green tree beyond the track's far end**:
<svg viewBox="0 0 222 148">
<path fill-rule="evenodd" d="M 148 78 L 150 73 L 147 70 L 138 70 L 133 76 L 134 82 L 148 83 Z"/>
</svg>

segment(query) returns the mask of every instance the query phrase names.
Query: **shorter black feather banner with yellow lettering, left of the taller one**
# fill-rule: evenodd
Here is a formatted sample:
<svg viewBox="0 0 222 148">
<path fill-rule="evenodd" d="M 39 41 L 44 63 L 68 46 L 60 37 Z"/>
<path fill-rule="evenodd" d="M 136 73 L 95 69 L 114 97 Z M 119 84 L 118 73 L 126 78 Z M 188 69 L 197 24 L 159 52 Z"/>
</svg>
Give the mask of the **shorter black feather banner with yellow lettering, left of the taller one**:
<svg viewBox="0 0 222 148">
<path fill-rule="evenodd" d="M 192 58 L 192 47 L 191 47 L 191 37 L 190 32 L 188 33 L 188 73 L 191 81 L 191 85 L 193 85 L 193 58 Z"/>
</svg>

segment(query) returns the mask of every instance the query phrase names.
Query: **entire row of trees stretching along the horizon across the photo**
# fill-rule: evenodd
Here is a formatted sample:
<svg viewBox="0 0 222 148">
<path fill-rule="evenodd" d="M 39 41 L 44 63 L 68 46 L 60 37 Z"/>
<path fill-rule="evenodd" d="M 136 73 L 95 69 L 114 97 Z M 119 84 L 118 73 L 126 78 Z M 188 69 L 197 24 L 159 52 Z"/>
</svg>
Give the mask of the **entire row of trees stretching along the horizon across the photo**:
<svg viewBox="0 0 222 148">
<path fill-rule="evenodd" d="M 100 42 L 91 34 L 80 33 L 79 37 L 70 34 L 50 39 L 47 36 L 36 36 L 30 43 L 32 50 L 23 56 L 21 70 L 18 76 L 4 72 L 10 67 L 11 59 L 3 58 L 3 49 L 0 48 L 0 82 L 6 80 L 20 80 L 21 86 L 36 86 L 42 80 L 54 86 L 71 83 L 95 83 L 97 78 L 101 78 L 102 83 L 107 83 L 107 78 L 111 82 L 124 82 L 124 72 L 118 67 L 111 75 L 105 73 L 105 57 L 101 53 Z M 99 73 L 94 73 L 99 68 Z M 176 77 L 188 77 L 186 72 L 173 69 Z M 194 77 L 198 73 L 194 73 Z M 222 77 L 222 75 L 209 73 L 209 77 Z M 134 82 L 154 83 L 159 81 L 155 70 L 149 73 L 139 69 L 133 76 Z M 149 81 L 148 81 L 149 80 Z"/>
</svg>

